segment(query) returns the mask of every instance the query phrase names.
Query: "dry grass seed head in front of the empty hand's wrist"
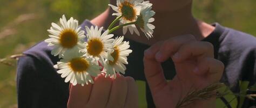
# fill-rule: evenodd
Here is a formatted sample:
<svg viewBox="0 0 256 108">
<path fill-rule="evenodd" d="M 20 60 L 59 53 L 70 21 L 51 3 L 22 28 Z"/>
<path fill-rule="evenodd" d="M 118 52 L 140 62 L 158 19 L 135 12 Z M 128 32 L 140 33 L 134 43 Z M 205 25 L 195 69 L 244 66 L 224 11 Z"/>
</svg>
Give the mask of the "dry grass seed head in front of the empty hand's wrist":
<svg viewBox="0 0 256 108">
<path fill-rule="evenodd" d="M 185 107 L 197 100 L 207 100 L 213 97 L 216 97 L 216 98 L 222 97 L 226 94 L 218 93 L 218 92 L 215 93 L 215 92 L 218 91 L 223 86 L 224 86 L 223 83 L 214 83 L 200 90 L 197 90 L 197 89 L 191 90 L 190 92 L 187 93 L 185 98 L 183 98 L 182 100 L 179 100 L 178 104 L 176 105 L 176 108 Z"/>
</svg>

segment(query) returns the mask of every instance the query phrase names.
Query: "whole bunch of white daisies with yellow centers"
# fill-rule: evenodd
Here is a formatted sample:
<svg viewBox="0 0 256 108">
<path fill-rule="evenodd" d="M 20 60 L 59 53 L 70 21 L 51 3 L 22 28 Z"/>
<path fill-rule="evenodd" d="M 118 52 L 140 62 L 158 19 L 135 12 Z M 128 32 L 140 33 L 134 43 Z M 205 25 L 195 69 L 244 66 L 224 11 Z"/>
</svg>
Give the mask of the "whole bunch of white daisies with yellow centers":
<svg viewBox="0 0 256 108">
<path fill-rule="evenodd" d="M 132 52 L 129 42 L 123 41 L 124 36 L 112 38 L 113 31 L 127 29 L 137 35 L 139 28 L 149 39 L 152 38 L 155 12 L 152 4 L 143 0 L 117 0 L 117 6 L 109 4 L 116 11 L 117 18 L 104 32 L 103 27 L 85 26 L 85 31 L 78 26 L 78 21 L 72 17 L 67 21 L 63 15 L 59 19 L 60 25 L 52 23 L 48 32 L 50 38 L 44 41 L 52 46 L 51 54 L 58 56 L 60 61 L 54 65 L 65 82 L 73 85 L 93 84 L 93 78 L 100 73 L 106 77 L 116 77 L 116 73 L 125 73 L 128 64 L 127 56 Z M 118 26 L 114 26 L 119 22 Z M 86 41 L 87 40 L 87 41 Z"/>
</svg>

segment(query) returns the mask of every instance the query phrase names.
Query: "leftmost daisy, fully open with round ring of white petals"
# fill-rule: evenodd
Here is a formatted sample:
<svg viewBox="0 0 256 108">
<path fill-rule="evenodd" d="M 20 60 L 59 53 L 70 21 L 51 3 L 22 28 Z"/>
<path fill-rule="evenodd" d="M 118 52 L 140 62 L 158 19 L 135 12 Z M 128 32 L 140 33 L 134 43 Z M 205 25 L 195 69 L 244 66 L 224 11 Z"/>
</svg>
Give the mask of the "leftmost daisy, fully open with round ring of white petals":
<svg viewBox="0 0 256 108">
<path fill-rule="evenodd" d="M 50 38 L 45 39 L 44 42 L 48 43 L 48 46 L 54 46 L 51 54 L 54 56 L 59 55 L 63 57 L 66 51 L 74 51 L 74 49 L 84 49 L 84 31 L 78 27 L 78 21 L 72 17 L 66 21 L 66 17 L 63 15 L 59 19 L 60 25 L 51 23 L 51 28 L 48 32 Z"/>
</svg>

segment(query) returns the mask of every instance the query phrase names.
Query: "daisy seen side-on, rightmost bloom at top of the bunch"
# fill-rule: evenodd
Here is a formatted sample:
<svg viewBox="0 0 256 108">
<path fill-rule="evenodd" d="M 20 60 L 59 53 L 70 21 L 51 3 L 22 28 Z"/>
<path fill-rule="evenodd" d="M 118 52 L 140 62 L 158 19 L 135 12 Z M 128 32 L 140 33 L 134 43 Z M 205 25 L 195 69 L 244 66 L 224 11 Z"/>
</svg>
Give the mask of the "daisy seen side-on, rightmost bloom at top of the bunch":
<svg viewBox="0 0 256 108">
<path fill-rule="evenodd" d="M 156 14 L 152 9 L 152 4 L 149 3 L 149 1 L 142 3 L 144 8 L 140 11 L 140 15 L 137 18 L 136 25 L 139 26 L 140 30 L 145 33 L 145 36 L 147 39 L 153 37 L 153 29 L 155 26 L 153 24 L 150 24 L 154 21 L 154 18 L 151 18 Z"/>
</svg>

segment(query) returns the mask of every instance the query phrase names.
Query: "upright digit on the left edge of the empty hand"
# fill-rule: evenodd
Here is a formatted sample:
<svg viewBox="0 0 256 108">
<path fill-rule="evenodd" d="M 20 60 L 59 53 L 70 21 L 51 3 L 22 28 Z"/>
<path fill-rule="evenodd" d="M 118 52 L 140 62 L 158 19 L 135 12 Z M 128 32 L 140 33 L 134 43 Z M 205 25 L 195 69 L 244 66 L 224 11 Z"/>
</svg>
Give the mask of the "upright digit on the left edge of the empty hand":
<svg viewBox="0 0 256 108">
<path fill-rule="evenodd" d="M 144 52 L 144 72 L 152 93 L 156 93 L 167 84 L 161 64 L 155 58 L 160 46 L 161 43 L 154 44 Z"/>
</svg>

